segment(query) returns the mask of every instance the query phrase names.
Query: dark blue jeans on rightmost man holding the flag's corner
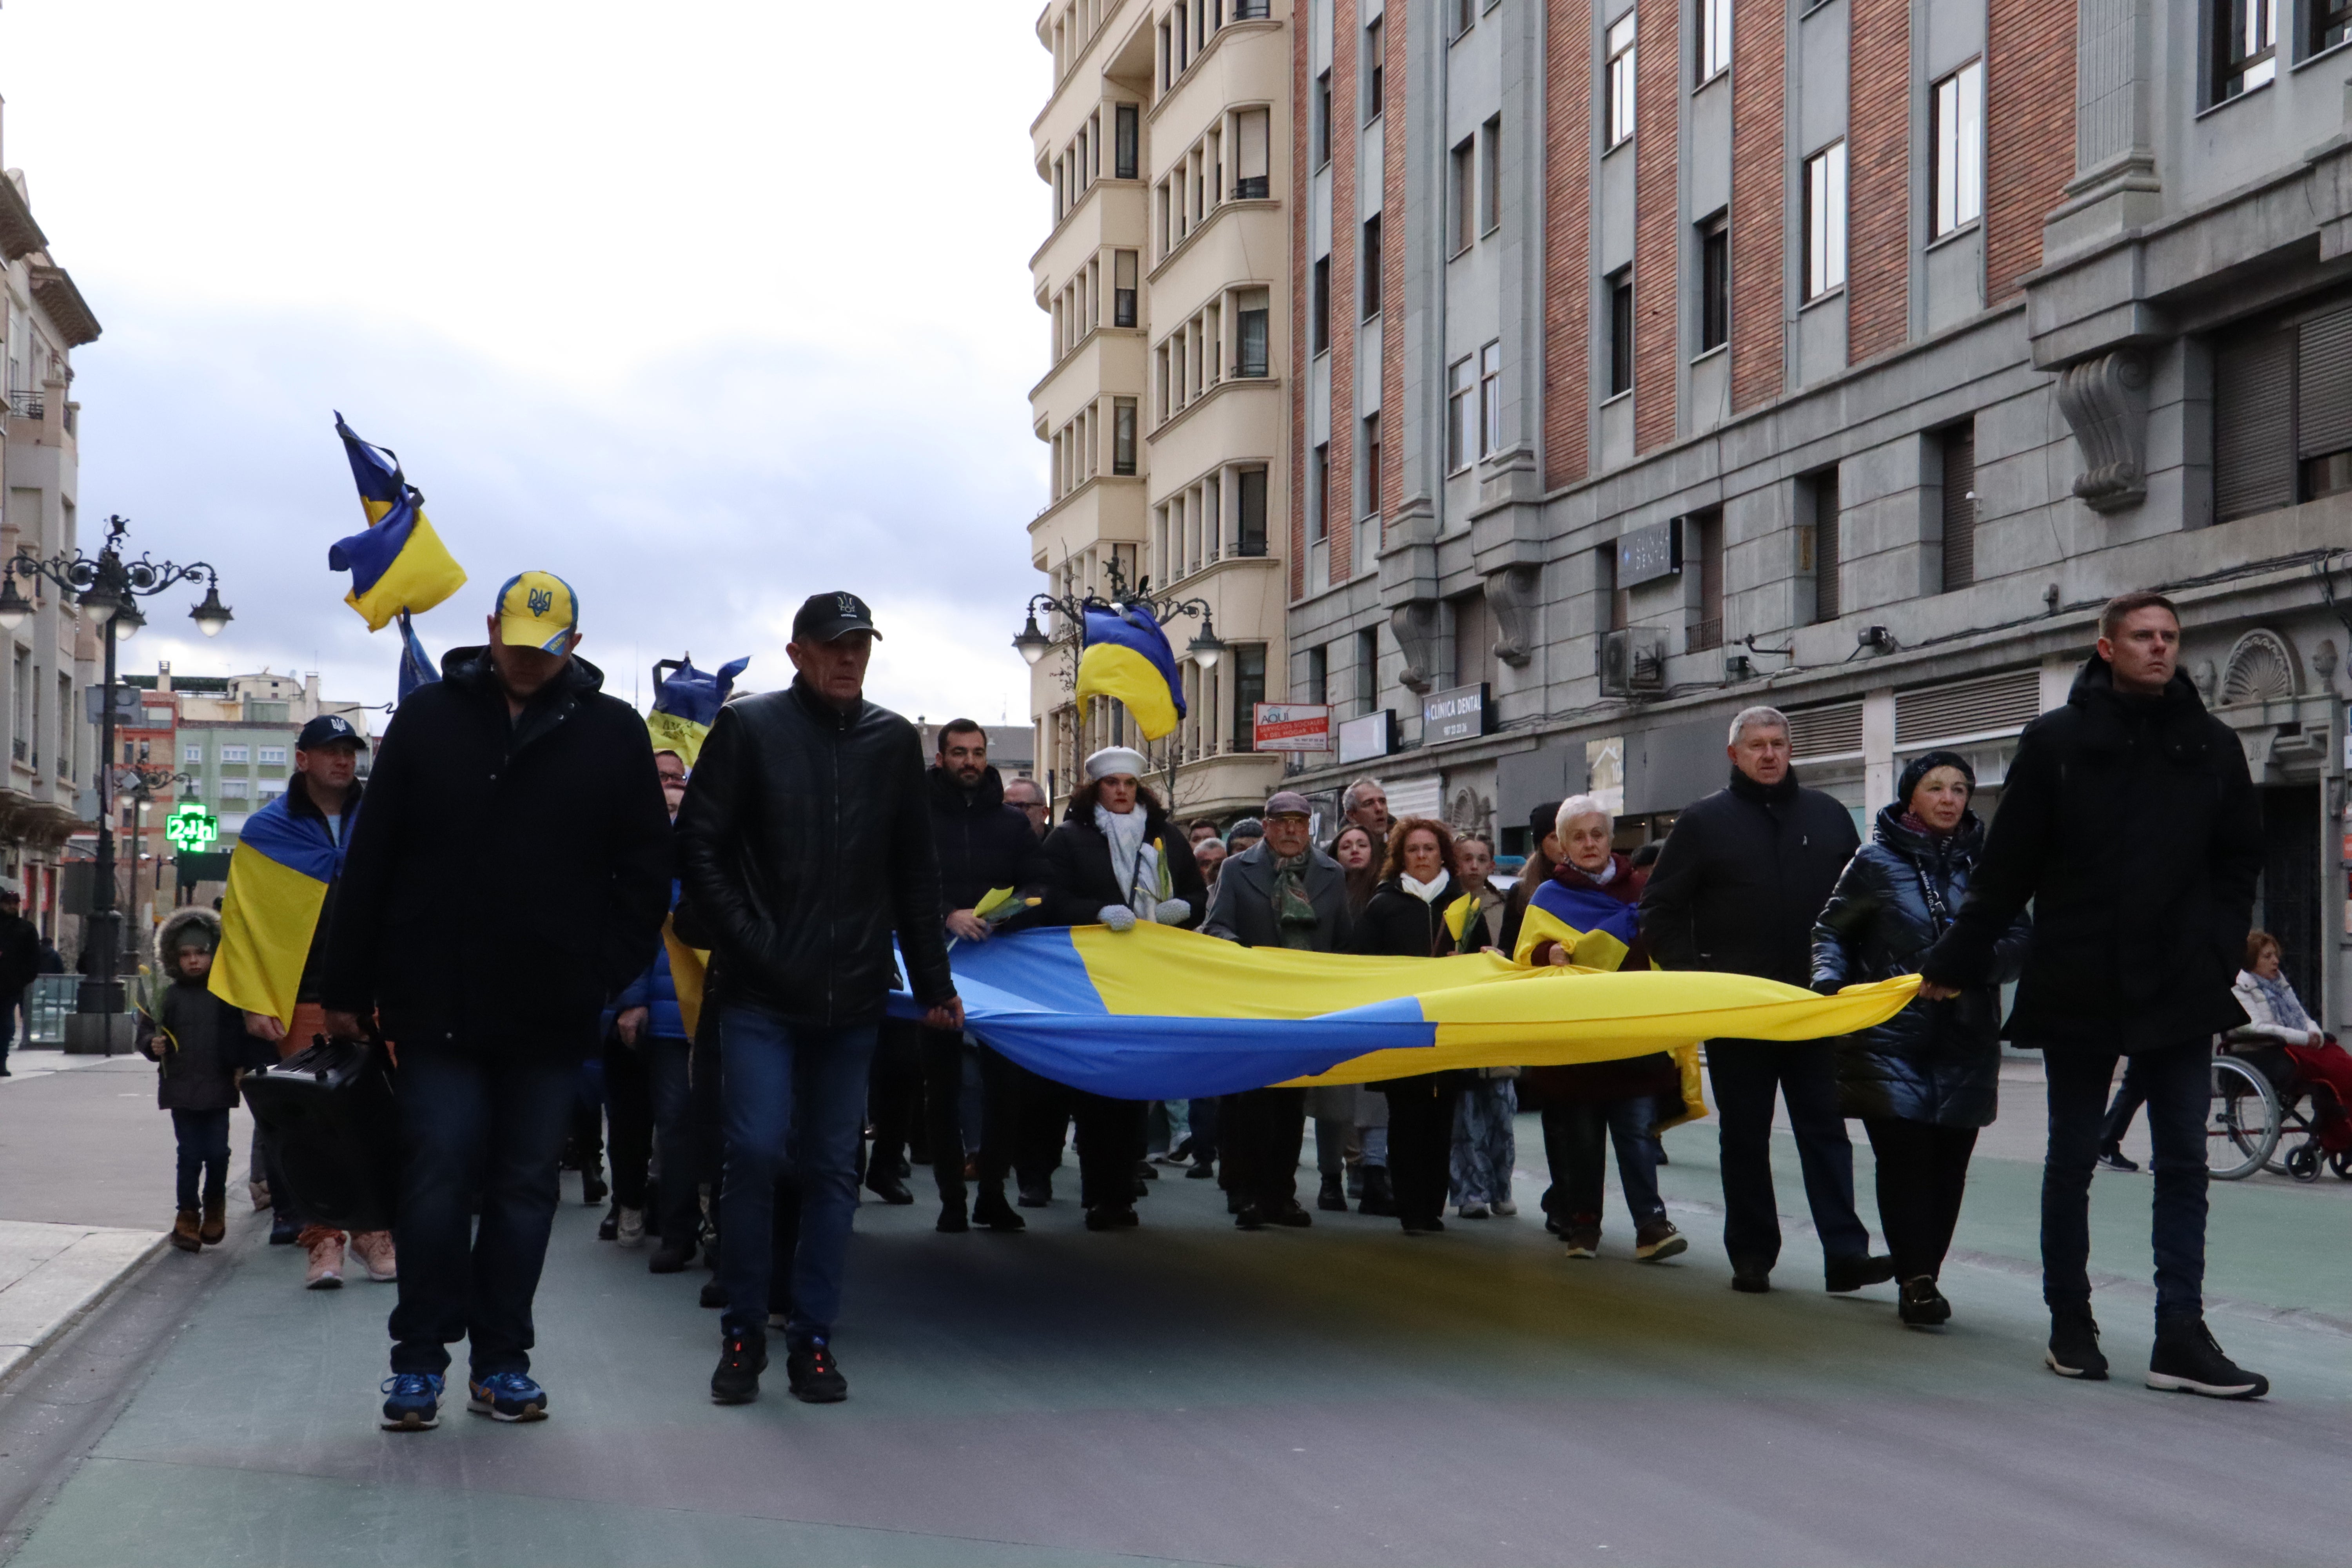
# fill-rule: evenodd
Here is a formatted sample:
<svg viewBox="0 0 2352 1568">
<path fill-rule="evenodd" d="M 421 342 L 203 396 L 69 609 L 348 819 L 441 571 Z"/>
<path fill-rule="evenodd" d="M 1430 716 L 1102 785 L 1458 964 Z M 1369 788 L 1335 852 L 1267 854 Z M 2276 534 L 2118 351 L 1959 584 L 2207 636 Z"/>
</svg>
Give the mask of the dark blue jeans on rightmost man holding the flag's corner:
<svg viewBox="0 0 2352 1568">
<path fill-rule="evenodd" d="M 2042 1161 L 2042 1300 L 2091 1307 L 2091 1168 L 2107 1124 L 2114 1051 L 2049 1046 L 2051 1143 Z M 2157 1321 L 2204 1314 L 2206 1110 L 2213 1046 L 2194 1041 L 2131 1056 L 2126 1086 L 2147 1095 L 2154 1145 L 2150 1241 L 2157 1253 Z"/>
</svg>

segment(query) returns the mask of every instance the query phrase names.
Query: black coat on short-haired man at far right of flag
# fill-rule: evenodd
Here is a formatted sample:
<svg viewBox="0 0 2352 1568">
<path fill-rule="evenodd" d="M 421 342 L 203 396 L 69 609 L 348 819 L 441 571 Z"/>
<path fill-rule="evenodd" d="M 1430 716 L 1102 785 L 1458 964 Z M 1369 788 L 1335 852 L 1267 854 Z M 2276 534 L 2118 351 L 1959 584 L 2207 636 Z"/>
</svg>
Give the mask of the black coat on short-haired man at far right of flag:
<svg viewBox="0 0 2352 1568">
<path fill-rule="evenodd" d="M 2065 708 L 2025 726 L 1969 900 L 1919 973 L 1983 985 L 2032 900 L 2018 1044 L 2129 1053 L 2234 1030 L 2260 870 L 2263 806 L 2237 733 L 2185 675 L 2131 701 L 2093 656 Z"/>
</svg>

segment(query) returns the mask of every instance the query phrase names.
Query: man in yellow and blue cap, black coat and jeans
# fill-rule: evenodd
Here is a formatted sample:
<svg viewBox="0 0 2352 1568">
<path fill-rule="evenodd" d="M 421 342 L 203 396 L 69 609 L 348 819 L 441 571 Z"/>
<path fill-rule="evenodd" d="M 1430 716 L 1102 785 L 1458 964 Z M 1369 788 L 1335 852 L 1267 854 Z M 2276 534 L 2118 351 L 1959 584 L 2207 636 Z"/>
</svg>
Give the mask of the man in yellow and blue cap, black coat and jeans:
<svg viewBox="0 0 2352 1568">
<path fill-rule="evenodd" d="M 532 1298 L 572 1093 L 670 905 L 644 719 L 576 644 L 562 578 L 499 590 L 489 646 L 452 651 L 400 703 L 336 889 L 327 1032 L 374 1020 L 400 1063 L 395 1429 L 435 1425 L 454 1340 L 470 1340 L 475 1410 L 546 1415 Z"/>
</svg>

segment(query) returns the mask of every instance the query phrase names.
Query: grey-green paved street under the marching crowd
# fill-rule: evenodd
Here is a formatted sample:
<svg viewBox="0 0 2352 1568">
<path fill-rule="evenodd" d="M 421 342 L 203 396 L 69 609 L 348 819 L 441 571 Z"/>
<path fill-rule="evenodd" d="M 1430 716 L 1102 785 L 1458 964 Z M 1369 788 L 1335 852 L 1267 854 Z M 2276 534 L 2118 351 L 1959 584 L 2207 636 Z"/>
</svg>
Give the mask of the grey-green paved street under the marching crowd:
<svg viewBox="0 0 2352 1568">
<path fill-rule="evenodd" d="M 167 1218 L 165 1117 L 127 1088 L 143 1067 L 0 1088 L 0 1218 L 28 1157 L 87 1166 L 92 1215 Z M 1994 1147 L 2030 1133 L 2030 1091 L 2009 1084 Z M 2213 1326 L 2279 1385 L 2223 1406 L 2039 1368 L 2030 1164 L 1978 1164 L 1945 1279 L 1957 1319 L 1926 1335 L 1896 1326 L 1884 1288 L 1823 1295 L 1797 1225 L 1778 1288 L 1733 1295 L 1712 1138 L 1668 1147 L 1693 1246 L 1665 1267 L 1630 1262 L 1621 1211 L 1602 1260 L 1559 1255 L 1531 1218 L 1531 1119 L 1524 1215 L 1414 1241 L 1355 1215 L 1237 1234 L 1183 1180 L 1110 1237 L 1068 1199 L 1023 1237 L 936 1237 L 929 1206 L 868 1206 L 840 1333 L 854 1394 L 833 1408 L 781 1396 L 781 1368 L 760 1403 L 713 1406 L 701 1272 L 644 1274 L 567 1201 L 541 1291 L 553 1420 L 452 1410 L 419 1436 L 372 1420 L 390 1288 L 306 1293 L 299 1253 L 240 1213 L 228 1248 L 162 1253 L 0 1396 L 0 1448 L 61 1481 L 0 1523 L 0 1552 L 24 1540 L 24 1568 L 158 1561 L 160 1542 L 188 1566 L 2343 1561 L 2326 1500 L 2352 1462 L 2352 1185 L 2213 1190 Z M 2150 1338 L 2145 1201 L 2145 1178 L 2098 1180 L 2119 1373 Z M 40 1206 L 75 1218 L 54 1185 Z M 103 1382 L 115 1363 L 113 1392 L 56 1396 L 96 1410 L 78 1436 L 26 1422 L 45 1378 Z"/>
</svg>

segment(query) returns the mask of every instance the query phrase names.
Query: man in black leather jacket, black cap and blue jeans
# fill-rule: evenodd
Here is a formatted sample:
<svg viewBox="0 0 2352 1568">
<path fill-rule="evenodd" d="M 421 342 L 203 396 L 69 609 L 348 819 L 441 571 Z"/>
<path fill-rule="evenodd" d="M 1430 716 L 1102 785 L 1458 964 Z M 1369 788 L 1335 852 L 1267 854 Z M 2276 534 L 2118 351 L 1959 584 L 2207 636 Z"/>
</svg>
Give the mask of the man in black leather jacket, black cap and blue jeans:
<svg viewBox="0 0 2352 1568">
<path fill-rule="evenodd" d="M 962 1030 L 938 912 L 938 851 L 922 741 L 866 701 L 873 614 L 851 592 L 809 597 L 786 691 L 720 710 L 677 813 L 691 922 L 715 950 L 727 1175 L 727 1288 L 710 1396 L 743 1403 L 767 1368 L 776 1175 L 790 1150 L 800 1244 L 786 1260 L 786 1375 L 809 1403 L 849 1396 L 828 1340 L 858 1206 L 866 1077 L 896 980 L 891 931 L 927 1023 Z"/>
</svg>

